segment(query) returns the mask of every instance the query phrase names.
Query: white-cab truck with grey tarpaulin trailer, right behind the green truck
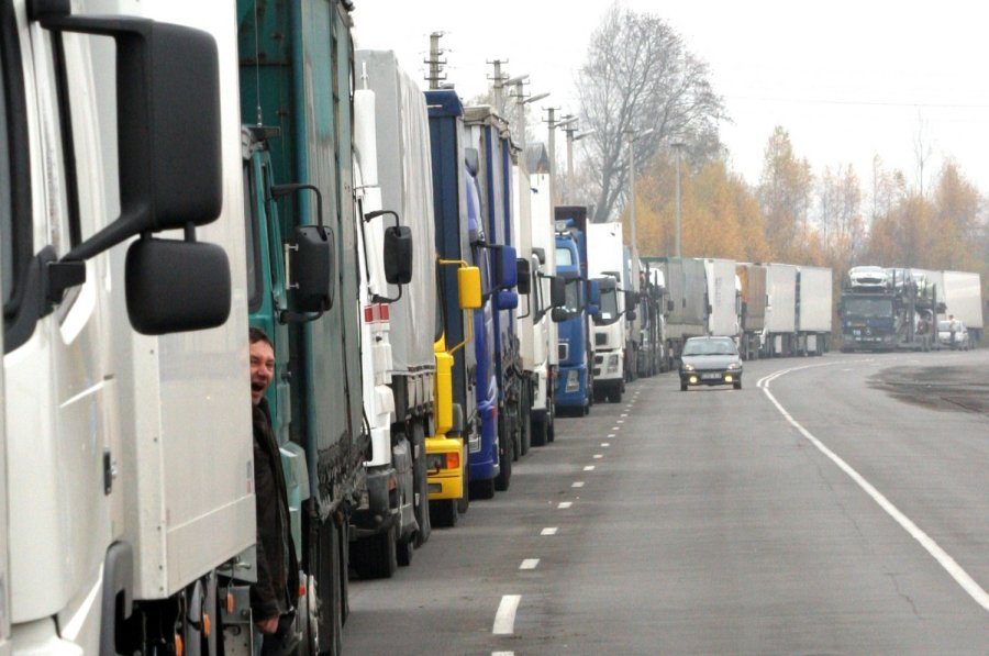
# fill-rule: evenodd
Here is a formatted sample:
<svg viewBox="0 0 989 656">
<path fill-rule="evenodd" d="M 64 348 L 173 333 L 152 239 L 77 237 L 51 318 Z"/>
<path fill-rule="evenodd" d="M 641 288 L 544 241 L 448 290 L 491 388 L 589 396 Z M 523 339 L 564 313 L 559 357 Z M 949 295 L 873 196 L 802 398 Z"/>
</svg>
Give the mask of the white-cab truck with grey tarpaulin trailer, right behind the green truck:
<svg viewBox="0 0 989 656">
<path fill-rule="evenodd" d="M 426 440 L 433 435 L 437 331 L 436 262 L 434 256 L 433 180 L 430 164 L 429 115 L 425 98 L 413 78 L 399 66 L 390 51 L 357 51 L 355 66 L 360 86 L 374 93 L 374 134 L 363 149 L 376 148 L 377 196 L 380 207 L 368 208 L 370 221 L 408 227 L 411 236 L 412 263 L 408 285 L 390 286 L 389 344 L 391 368 L 386 380 L 393 399 L 390 435 L 392 459 L 398 472 L 401 512 L 396 529 L 398 564 L 408 565 L 415 547 L 429 540 L 429 466 Z M 362 116 L 358 126 L 371 132 L 369 119 Z M 365 127 L 366 126 L 366 127 Z M 370 142 L 370 140 L 368 140 Z M 362 152 L 362 155 L 364 153 Z M 370 167 L 367 167 L 368 169 Z M 376 233 L 384 226 L 374 225 Z M 387 452 L 381 454 L 387 456 Z M 378 462 L 375 458 L 374 462 Z M 399 466 L 399 463 L 405 463 Z M 407 467 L 405 465 L 410 465 Z M 388 471 L 389 469 L 386 469 Z M 382 474 L 382 477 L 385 475 Z M 381 477 L 378 477 L 379 479 Z M 387 480 L 387 478 L 384 478 Z M 368 483 L 373 482 L 368 478 Z M 362 554 L 380 549 L 363 548 L 364 542 L 377 545 L 382 529 L 378 518 L 388 511 L 387 488 L 371 496 L 378 503 L 362 503 L 354 513 L 357 540 L 352 549 L 354 562 L 363 569 Z M 388 501 L 388 503 L 386 503 Z M 379 503 L 386 503 L 380 508 Z M 369 534 L 368 534 L 369 533 Z M 380 558 L 375 558 L 380 562 Z"/>
</svg>

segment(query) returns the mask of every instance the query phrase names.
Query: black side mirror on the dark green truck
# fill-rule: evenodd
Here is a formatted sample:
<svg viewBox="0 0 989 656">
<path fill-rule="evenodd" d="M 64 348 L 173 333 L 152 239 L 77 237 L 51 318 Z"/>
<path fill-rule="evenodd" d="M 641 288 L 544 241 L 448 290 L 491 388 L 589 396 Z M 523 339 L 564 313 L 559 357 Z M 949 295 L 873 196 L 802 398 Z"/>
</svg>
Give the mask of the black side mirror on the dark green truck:
<svg viewBox="0 0 989 656">
<path fill-rule="evenodd" d="M 288 244 L 287 286 L 298 312 L 325 312 L 333 307 L 336 246 L 333 231 L 321 225 L 297 225 Z"/>
</svg>

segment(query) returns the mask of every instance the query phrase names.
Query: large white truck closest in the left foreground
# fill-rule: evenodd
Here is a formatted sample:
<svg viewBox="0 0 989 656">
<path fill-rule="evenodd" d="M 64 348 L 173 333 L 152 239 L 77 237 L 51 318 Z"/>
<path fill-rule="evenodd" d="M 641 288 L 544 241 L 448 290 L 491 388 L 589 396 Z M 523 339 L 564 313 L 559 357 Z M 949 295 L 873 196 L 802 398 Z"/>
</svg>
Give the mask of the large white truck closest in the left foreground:
<svg viewBox="0 0 989 656">
<path fill-rule="evenodd" d="M 15 653 L 214 649 L 255 541 L 233 8 L 136 9 L 0 4 Z"/>
</svg>

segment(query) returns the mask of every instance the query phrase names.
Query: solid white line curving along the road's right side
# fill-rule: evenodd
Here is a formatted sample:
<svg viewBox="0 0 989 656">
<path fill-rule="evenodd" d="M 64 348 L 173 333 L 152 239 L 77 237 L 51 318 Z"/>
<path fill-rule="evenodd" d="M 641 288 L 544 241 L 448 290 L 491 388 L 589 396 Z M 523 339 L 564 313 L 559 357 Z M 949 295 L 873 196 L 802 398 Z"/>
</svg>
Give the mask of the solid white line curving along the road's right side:
<svg viewBox="0 0 989 656">
<path fill-rule="evenodd" d="M 863 362 L 871 362 L 871 360 L 863 360 Z M 829 363 L 836 364 L 836 363 Z M 779 378 L 780 376 L 785 376 L 786 374 L 790 374 L 792 371 L 799 371 L 801 369 L 810 369 L 812 367 L 826 367 L 829 364 L 823 365 L 807 365 L 803 367 L 792 367 L 790 369 L 782 369 L 780 371 L 776 371 L 768 376 L 764 376 L 759 379 L 756 387 L 763 388 L 763 392 L 766 397 L 776 405 L 776 409 L 779 410 L 779 413 L 784 415 L 784 418 L 794 427 L 797 429 L 801 435 L 803 435 L 811 444 L 816 447 L 822 454 L 824 454 L 832 463 L 834 463 L 838 469 L 844 471 L 848 478 L 851 478 L 855 483 L 862 488 L 862 490 L 868 494 L 873 501 L 875 501 L 879 508 L 886 511 L 892 520 L 898 523 L 907 533 L 913 537 L 924 549 L 935 559 L 937 564 L 941 565 L 948 575 L 955 579 L 955 582 L 958 583 L 963 590 L 965 590 L 969 597 L 975 600 L 984 610 L 989 611 L 989 593 L 986 592 L 976 581 L 973 579 L 965 569 L 962 568 L 958 563 L 952 558 L 941 545 L 938 545 L 934 540 L 924 533 L 913 521 L 908 518 L 905 514 L 900 512 L 892 502 L 887 499 L 879 490 L 877 490 L 873 485 L 867 481 L 858 471 L 856 471 L 848 463 L 843 460 L 837 454 L 827 448 L 823 442 L 814 437 L 810 431 L 804 429 L 800 422 L 798 422 L 793 416 L 787 412 L 786 408 L 776 400 L 776 397 L 773 396 L 773 392 L 769 391 L 769 383 Z"/>
</svg>

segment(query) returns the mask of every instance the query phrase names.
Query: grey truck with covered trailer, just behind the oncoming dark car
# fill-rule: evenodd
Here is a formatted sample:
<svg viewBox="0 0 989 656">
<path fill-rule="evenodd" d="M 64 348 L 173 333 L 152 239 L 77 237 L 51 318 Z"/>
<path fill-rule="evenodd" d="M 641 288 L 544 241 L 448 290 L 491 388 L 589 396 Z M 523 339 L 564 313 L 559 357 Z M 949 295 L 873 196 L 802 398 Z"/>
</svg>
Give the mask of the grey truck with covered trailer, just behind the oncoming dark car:
<svg viewBox="0 0 989 656">
<path fill-rule="evenodd" d="M 667 369 L 677 367 L 684 344 L 690 337 L 708 334 L 707 271 L 702 259 L 689 257 L 646 257 L 663 271 L 671 304 L 666 316 Z"/>
</svg>

